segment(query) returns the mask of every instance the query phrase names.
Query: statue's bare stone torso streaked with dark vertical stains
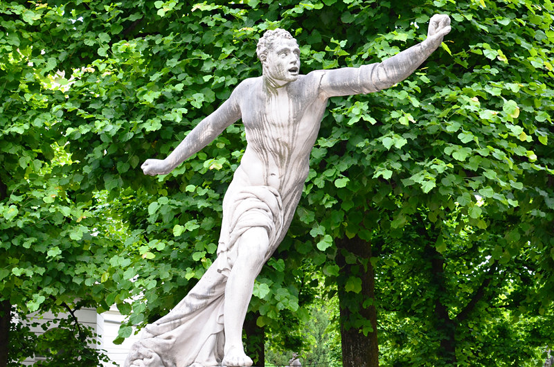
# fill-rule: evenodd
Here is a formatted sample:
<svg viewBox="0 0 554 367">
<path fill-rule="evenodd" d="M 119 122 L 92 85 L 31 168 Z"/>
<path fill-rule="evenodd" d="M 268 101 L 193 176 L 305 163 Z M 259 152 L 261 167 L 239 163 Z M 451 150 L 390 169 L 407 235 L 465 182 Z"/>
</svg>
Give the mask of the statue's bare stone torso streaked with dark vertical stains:
<svg viewBox="0 0 554 367">
<path fill-rule="evenodd" d="M 262 77 L 247 80 L 239 105 L 248 145 L 237 174 L 285 196 L 303 186 L 327 105 L 317 75 L 300 75 L 278 89 L 265 88 Z"/>
</svg>

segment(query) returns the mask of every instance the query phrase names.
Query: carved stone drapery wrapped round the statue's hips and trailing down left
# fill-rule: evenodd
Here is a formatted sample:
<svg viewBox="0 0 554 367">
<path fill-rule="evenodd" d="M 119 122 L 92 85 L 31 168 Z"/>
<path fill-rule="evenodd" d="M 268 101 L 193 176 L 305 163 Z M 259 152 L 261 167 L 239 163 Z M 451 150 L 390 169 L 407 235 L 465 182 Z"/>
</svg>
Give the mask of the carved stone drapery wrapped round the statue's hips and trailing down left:
<svg viewBox="0 0 554 367">
<path fill-rule="evenodd" d="M 231 184 L 223 200 L 217 259 L 169 314 L 145 327 L 141 339 L 129 351 L 125 367 L 220 366 L 224 357 L 227 278 L 238 255 L 240 236 L 255 227 L 267 230 L 267 261 L 286 231 L 278 190 L 271 186 L 237 188 Z"/>
</svg>

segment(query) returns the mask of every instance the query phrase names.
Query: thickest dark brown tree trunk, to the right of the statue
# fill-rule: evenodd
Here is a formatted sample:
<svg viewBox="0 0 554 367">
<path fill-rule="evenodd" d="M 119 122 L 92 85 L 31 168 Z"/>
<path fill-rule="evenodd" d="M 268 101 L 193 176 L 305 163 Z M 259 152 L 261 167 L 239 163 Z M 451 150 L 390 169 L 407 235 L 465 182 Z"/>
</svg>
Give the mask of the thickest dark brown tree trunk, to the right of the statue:
<svg viewBox="0 0 554 367">
<path fill-rule="evenodd" d="M 379 366 L 379 346 L 377 344 L 377 310 L 375 299 L 375 273 L 371 265 L 371 244 L 358 237 L 337 240 L 337 265 L 341 267 L 337 281 L 339 290 L 339 308 L 341 315 L 341 345 L 343 366 L 376 367 Z M 350 254 L 348 262 L 346 257 Z M 352 261 L 356 259 L 356 261 Z M 352 263 L 354 262 L 354 263 Z M 353 278 L 352 278 L 353 277 Z M 352 285 L 359 285 L 361 291 L 352 292 Z M 348 280 L 350 279 L 350 283 Z M 347 292 L 350 291 L 350 292 Z M 369 301 L 372 300 L 372 301 Z M 373 330 L 364 335 L 364 327 L 355 326 L 356 321 L 370 325 Z M 359 324 L 358 324 L 359 325 Z"/>
</svg>

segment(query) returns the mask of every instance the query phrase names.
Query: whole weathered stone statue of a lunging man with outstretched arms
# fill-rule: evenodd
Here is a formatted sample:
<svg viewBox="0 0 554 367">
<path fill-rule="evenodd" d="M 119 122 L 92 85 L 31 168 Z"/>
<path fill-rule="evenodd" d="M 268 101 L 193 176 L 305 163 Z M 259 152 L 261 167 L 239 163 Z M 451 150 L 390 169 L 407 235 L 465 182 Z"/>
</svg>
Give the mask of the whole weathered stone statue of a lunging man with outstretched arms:
<svg viewBox="0 0 554 367">
<path fill-rule="evenodd" d="M 251 366 L 242 324 L 253 284 L 283 240 L 309 170 L 327 101 L 371 93 L 404 80 L 450 31 L 434 15 L 427 39 L 377 64 L 301 75 L 300 49 L 285 30 L 258 43 L 262 76 L 241 82 L 166 159 L 148 159 L 145 174 L 168 174 L 242 119 L 247 148 L 223 200 L 217 259 L 168 315 L 148 325 L 125 366 Z"/>
</svg>

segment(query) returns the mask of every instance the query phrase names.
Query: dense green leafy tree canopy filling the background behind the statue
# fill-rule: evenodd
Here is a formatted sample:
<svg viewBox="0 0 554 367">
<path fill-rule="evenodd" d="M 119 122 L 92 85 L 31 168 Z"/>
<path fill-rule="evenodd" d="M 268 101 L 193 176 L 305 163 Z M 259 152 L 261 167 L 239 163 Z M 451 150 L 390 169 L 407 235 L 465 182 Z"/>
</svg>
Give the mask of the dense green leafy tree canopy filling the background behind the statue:
<svg viewBox="0 0 554 367">
<path fill-rule="evenodd" d="M 410 78 L 330 100 L 251 311 L 293 348 L 320 287 L 383 364 L 532 363 L 552 343 L 550 0 L 0 3 L 3 321 L 115 304 L 121 341 L 168 312 L 215 256 L 242 125 L 166 176 L 139 165 L 260 75 L 264 30 L 307 73 L 384 60 L 437 12 L 452 33 Z"/>
</svg>

